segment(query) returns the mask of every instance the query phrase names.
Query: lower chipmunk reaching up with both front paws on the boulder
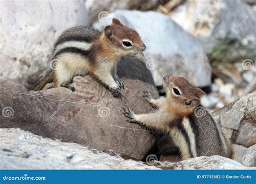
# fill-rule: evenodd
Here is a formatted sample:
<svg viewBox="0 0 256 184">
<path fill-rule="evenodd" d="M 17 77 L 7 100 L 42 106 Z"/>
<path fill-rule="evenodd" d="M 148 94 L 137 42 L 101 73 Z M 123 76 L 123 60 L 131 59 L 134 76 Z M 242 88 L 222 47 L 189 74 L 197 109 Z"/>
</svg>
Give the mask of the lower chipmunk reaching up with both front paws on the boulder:
<svg viewBox="0 0 256 184">
<path fill-rule="evenodd" d="M 134 114 L 126 107 L 123 114 L 130 118 L 128 122 L 169 133 L 182 159 L 202 155 L 231 157 L 228 139 L 218 123 L 200 105 L 200 96 L 204 92 L 183 77 L 164 76 L 163 83 L 166 97 L 155 100 L 147 91 L 143 95 L 158 109 L 150 114 Z"/>
</svg>

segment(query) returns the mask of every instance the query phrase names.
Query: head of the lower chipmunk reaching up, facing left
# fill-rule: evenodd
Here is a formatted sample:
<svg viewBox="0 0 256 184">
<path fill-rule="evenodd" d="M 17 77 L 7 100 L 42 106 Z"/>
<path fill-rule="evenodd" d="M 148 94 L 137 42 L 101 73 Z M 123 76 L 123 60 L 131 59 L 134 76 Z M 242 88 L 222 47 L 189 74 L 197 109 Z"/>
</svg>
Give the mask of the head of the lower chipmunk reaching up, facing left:
<svg viewBox="0 0 256 184">
<path fill-rule="evenodd" d="M 171 106 L 179 109 L 184 116 L 200 105 L 200 96 L 205 94 L 185 78 L 171 75 L 164 76 L 164 89 Z"/>
</svg>

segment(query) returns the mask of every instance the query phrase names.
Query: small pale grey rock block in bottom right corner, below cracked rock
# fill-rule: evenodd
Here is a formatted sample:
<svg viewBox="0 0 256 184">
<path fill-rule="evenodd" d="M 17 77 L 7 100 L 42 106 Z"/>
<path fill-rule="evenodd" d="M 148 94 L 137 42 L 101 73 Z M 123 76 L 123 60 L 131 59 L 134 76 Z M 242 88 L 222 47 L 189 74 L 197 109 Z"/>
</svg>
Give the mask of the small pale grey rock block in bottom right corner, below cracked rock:
<svg viewBox="0 0 256 184">
<path fill-rule="evenodd" d="M 256 166 L 256 145 L 244 147 L 233 144 L 233 159 L 239 161 L 247 167 Z"/>
</svg>

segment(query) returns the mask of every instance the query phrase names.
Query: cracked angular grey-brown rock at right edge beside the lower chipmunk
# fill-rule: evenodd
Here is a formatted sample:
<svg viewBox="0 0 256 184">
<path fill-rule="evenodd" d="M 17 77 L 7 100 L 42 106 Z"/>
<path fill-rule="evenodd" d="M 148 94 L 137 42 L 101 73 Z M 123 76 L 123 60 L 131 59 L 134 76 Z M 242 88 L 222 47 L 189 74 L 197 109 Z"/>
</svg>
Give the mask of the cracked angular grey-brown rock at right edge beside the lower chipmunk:
<svg viewBox="0 0 256 184">
<path fill-rule="evenodd" d="M 256 91 L 213 112 L 225 135 L 233 142 L 234 160 L 251 158 L 256 164 Z M 247 151 L 246 151 L 247 150 Z M 253 150 L 253 151 L 252 151 Z"/>
</svg>

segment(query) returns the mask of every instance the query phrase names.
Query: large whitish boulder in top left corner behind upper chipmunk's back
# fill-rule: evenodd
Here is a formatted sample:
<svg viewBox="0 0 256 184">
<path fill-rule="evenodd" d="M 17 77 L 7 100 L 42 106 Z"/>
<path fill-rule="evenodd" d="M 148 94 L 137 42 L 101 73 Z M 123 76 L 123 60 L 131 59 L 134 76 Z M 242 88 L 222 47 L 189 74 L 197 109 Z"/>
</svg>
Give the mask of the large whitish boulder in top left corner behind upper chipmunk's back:
<svg viewBox="0 0 256 184">
<path fill-rule="evenodd" d="M 30 87 L 51 66 L 53 42 L 71 26 L 89 25 L 83 0 L 1 1 L 0 79 Z"/>
</svg>

